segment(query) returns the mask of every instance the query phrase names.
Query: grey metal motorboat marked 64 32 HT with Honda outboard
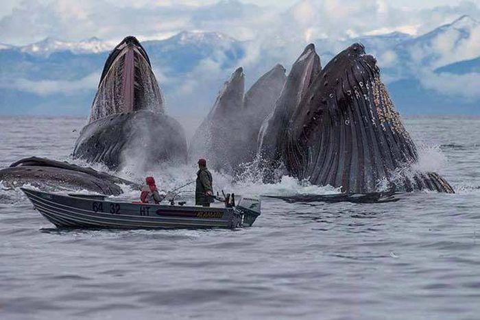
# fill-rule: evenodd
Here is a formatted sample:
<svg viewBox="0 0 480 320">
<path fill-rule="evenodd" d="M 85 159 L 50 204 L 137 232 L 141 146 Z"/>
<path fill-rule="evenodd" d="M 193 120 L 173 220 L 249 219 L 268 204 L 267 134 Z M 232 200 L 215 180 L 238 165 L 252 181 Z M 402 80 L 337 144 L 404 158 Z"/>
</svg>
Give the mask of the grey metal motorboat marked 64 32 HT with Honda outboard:
<svg viewBox="0 0 480 320">
<path fill-rule="evenodd" d="M 224 208 L 111 201 L 103 195 L 60 195 L 21 188 L 34 208 L 56 227 L 172 229 L 250 227 L 260 215 L 260 200 L 239 197 Z"/>
</svg>

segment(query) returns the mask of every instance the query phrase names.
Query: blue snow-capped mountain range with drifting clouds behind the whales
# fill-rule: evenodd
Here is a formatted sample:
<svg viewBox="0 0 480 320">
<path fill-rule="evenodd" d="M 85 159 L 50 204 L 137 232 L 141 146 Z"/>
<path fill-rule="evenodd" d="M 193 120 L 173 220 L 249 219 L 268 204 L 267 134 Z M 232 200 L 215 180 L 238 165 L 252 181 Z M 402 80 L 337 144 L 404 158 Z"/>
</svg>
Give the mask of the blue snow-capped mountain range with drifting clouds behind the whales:
<svg viewBox="0 0 480 320">
<path fill-rule="evenodd" d="M 461 16 L 427 34 L 400 32 L 311 40 L 322 65 L 361 42 L 376 56 L 402 114 L 480 114 L 480 23 Z M 25 46 L 0 44 L 0 115 L 86 116 L 99 73 L 116 42 L 46 38 Z M 308 42 L 239 41 L 218 32 L 180 32 L 143 42 L 167 108 L 173 115 L 203 116 L 237 66 L 246 82 L 281 63 L 287 72 Z"/>
</svg>

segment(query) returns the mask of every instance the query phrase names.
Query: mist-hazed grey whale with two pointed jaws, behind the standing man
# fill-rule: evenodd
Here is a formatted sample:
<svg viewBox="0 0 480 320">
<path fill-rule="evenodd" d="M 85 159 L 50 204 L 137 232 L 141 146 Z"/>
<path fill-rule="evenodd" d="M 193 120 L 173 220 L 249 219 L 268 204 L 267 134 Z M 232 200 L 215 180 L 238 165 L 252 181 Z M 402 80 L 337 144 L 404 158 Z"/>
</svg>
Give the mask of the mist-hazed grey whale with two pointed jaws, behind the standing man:
<svg viewBox="0 0 480 320">
<path fill-rule="evenodd" d="M 243 68 L 235 70 L 195 132 L 189 154 L 208 158 L 210 167 L 230 173 L 251 162 L 261 123 L 274 108 L 285 79 L 285 68 L 277 64 L 244 93 Z"/>
</svg>

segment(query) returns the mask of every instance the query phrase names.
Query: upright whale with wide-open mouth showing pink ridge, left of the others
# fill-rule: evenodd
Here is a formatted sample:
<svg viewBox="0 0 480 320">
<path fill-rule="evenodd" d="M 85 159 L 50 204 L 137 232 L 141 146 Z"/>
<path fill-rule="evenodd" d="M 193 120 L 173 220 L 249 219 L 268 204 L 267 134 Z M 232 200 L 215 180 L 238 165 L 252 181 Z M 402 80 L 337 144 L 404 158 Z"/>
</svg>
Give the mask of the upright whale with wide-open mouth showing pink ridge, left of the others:
<svg viewBox="0 0 480 320">
<path fill-rule="evenodd" d="M 135 159 L 139 169 L 159 162 L 185 162 L 187 139 L 178 121 L 165 114 L 164 99 L 139 40 L 123 39 L 108 56 L 89 123 L 73 157 L 119 169 Z"/>
</svg>

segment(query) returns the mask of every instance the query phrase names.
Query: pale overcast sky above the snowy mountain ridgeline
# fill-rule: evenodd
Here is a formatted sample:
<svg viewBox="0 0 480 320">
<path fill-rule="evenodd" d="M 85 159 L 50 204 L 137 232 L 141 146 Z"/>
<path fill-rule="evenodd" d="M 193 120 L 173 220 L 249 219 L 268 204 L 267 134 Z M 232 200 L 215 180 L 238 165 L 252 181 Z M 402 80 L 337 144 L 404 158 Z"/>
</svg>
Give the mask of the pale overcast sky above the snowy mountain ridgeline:
<svg viewBox="0 0 480 320">
<path fill-rule="evenodd" d="M 1 0 L 0 42 L 167 38 L 182 30 L 239 40 L 421 34 L 461 14 L 480 19 L 480 0 Z"/>
</svg>

